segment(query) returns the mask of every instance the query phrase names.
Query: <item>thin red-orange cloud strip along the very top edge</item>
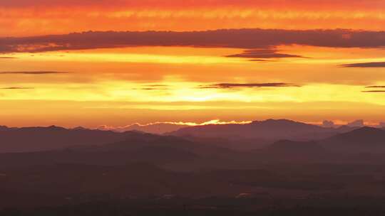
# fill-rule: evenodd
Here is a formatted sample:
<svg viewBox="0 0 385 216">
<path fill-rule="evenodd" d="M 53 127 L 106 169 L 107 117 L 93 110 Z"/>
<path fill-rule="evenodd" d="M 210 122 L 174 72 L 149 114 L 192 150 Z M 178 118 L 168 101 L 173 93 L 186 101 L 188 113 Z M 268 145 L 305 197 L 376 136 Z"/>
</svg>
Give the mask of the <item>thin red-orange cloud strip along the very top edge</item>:
<svg viewBox="0 0 385 216">
<path fill-rule="evenodd" d="M 324 0 L 315 3 L 312 0 L 141 0 L 141 1 L 130 1 L 130 0 L 12 0 L 12 1 L 1 1 L 0 6 L 4 7 L 39 7 L 39 6 L 69 6 L 69 7 L 82 7 L 82 6 L 103 6 L 103 7 L 149 7 L 155 8 L 185 8 L 188 6 L 195 7 L 217 7 L 217 6 L 260 6 L 260 7 L 294 7 L 304 9 L 324 9 L 324 8 L 344 8 L 344 9 L 376 9 L 379 6 L 384 6 L 384 1 L 381 0 Z"/>
</svg>

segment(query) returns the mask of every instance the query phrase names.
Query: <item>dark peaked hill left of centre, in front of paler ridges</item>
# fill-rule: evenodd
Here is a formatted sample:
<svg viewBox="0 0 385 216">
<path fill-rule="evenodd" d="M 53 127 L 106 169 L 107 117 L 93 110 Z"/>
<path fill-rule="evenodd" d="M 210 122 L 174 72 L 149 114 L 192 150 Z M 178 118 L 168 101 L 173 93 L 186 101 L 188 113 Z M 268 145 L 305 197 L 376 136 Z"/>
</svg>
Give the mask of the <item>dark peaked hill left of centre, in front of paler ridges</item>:
<svg viewBox="0 0 385 216">
<path fill-rule="evenodd" d="M 133 133 L 124 141 L 99 146 L 77 146 L 67 148 L 72 155 L 88 158 L 98 156 L 103 161 L 145 161 L 148 163 L 170 163 L 192 161 L 199 157 L 228 156 L 233 152 L 219 146 L 194 143 L 177 136 Z"/>
</svg>

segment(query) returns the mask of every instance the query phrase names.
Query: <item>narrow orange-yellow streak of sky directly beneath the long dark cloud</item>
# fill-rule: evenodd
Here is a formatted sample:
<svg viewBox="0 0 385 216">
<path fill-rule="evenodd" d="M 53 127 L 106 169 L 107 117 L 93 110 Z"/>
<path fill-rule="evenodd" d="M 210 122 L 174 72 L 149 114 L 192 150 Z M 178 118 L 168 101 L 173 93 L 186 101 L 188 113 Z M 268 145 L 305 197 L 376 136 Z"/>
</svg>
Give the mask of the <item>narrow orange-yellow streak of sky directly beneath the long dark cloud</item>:
<svg viewBox="0 0 385 216">
<path fill-rule="evenodd" d="M 23 60 L 26 62 L 66 63 L 151 63 L 180 65 L 247 65 L 261 68 L 265 65 L 282 63 L 342 65 L 356 62 L 385 61 L 385 50 L 381 48 L 319 48 L 306 45 L 279 45 L 275 53 L 293 55 L 291 58 L 227 58 L 244 52 L 240 48 L 192 48 L 192 47 L 131 47 L 131 48 L 99 48 L 91 50 L 63 50 L 43 53 L 4 53 L 2 58 Z M 267 51 L 269 51 L 267 49 Z M 303 56 L 304 58 L 295 56 Z M 250 61 L 250 60 L 262 61 Z M 1 60 L 1 59 L 0 59 Z M 5 60 L 3 59 L 4 63 Z M 8 60 L 9 61 L 9 60 Z M 61 63 L 62 62 L 62 63 Z M 59 66 L 61 66 L 59 65 Z"/>
</svg>

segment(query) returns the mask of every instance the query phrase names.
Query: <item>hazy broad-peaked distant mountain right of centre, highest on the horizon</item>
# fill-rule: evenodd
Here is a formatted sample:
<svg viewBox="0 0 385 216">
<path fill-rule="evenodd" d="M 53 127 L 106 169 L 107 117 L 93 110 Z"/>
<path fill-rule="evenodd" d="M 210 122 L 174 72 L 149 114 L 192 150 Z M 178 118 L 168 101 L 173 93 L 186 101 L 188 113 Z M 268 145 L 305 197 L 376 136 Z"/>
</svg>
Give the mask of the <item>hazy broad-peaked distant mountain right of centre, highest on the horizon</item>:
<svg viewBox="0 0 385 216">
<path fill-rule="evenodd" d="M 191 126 L 169 134 L 174 136 L 225 137 L 230 139 L 264 139 L 270 141 L 290 139 L 306 141 L 324 139 L 338 134 L 340 131 L 349 131 L 349 129 L 351 128 L 347 126 L 334 129 L 287 119 L 268 119 L 265 121 L 253 121 L 250 124 Z"/>
</svg>

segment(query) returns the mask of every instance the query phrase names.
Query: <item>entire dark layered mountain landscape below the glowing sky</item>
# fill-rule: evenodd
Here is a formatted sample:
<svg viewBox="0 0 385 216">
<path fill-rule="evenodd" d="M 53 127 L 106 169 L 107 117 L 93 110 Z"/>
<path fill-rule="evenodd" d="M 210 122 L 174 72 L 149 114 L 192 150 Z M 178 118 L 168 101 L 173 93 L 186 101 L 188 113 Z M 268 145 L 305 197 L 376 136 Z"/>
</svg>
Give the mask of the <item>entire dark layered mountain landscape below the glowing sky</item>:
<svg viewBox="0 0 385 216">
<path fill-rule="evenodd" d="M 0 208 L 72 205 L 95 198 L 155 197 L 157 205 L 174 196 L 260 198 L 253 203 L 325 194 L 385 196 L 381 129 L 267 120 L 193 126 L 173 134 L 178 136 L 3 126 Z M 261 146 L 262 139 L 270 143 Z M 236 145 L 247 148 L 230 149 Z"/>
</svg>

